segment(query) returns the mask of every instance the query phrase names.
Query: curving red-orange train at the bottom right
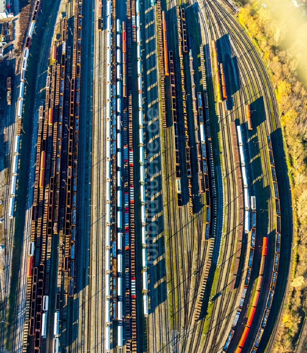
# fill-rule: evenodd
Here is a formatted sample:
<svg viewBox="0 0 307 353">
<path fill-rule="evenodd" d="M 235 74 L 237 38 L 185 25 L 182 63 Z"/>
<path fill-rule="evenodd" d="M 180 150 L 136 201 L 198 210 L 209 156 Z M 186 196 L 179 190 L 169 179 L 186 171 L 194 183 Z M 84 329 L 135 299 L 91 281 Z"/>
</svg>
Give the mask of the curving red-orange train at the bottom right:
<svg viewBox="0 0 307 353">
<path fill-rule="evenodd" d="M 263 282 L 263 273 L 264 273 L 264 264 L 265 264 L 266 254 L 267 254 L 267 237 L 264 237 L 262 240 L 261 263 L 260 263 L 260 270 L 259 270 L 259 276 L 258 276 L 258 283 L 256 286 L 256 293 L 255 293 L 255 296 L 254 296 L 254 299 L 252 302 L 252 307 L 249 312 L 244 331 L 242 333 L 241 339 L 239 341 L 239 344 L 238 344 L 238 347 L 237 347 L 235 353 L 242 352 L 242 349 L 243 349 L 244 344 L 246 342 L 249 330 L 252 327 L 252 323 L 253 323 L 253 319 L 254 319 L 254 315 L 255 315 L 255 311 L 257 308 L 259 295 L 260 295 L 260 291 L 261 291 L 261 287 L 262 287 L 262 282 Z M 226 343 L 228 343 L 228 341 L 226 341 Z M 225 346 L 226 346 L 226 343 L 225 343 Z M 230 343 L 230 341 L 229 341 L 229 343 Z M 229 343 L 228 343 L 228 345 L 229 345 Z M 225 346 L 224 346 L 224 348 L 225 348 Z M 228 348 L 228 346 L 227 346 L 227 348 Z M 224 352 L 226 351 L 226 349 L 224 350 Z"/>
</svg>

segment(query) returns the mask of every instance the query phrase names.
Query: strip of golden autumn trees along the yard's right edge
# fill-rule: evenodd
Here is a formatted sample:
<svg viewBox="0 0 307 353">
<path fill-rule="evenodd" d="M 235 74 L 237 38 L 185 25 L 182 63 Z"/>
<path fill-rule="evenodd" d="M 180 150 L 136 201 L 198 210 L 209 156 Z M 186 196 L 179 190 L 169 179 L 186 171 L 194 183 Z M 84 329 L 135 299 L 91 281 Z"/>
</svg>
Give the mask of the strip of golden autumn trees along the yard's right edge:
<svg viewBox="0 0 307 353">
<path fill-rule="evenodd" d="M 293 269 L 290 289 L 279 325 L 274 352 L 294 352 L 304 318 L 307 277 L 307 92 L 297 78 L 300 55 L 279 45 L 289 30 L 268 8 L 250 4 L 240 9 L 238 19 L 259 47 L 275 87 L 280 122 L 292 187 L 294 212 Z M 304 59 L 305 60 L 305 59 Z"/>
</svg>

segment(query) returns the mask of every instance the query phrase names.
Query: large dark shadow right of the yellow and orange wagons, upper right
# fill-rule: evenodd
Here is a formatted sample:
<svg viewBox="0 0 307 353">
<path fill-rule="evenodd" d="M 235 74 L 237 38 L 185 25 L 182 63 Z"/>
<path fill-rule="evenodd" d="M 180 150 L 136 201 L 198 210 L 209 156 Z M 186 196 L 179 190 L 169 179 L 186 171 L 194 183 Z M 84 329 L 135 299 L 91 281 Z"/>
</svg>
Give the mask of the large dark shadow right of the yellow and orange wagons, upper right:
<svg viewBox="0 0 307 353">
<path fill-rule="evenodd" d="M 240 90 L 240 77 L 238 61 L 236 56 L 232 56 L 229 34 L 225 34 L 216 41 L 218 62 L 223 64 L 225 74 L 226 92 L 232 96 Z"/>
</svg>

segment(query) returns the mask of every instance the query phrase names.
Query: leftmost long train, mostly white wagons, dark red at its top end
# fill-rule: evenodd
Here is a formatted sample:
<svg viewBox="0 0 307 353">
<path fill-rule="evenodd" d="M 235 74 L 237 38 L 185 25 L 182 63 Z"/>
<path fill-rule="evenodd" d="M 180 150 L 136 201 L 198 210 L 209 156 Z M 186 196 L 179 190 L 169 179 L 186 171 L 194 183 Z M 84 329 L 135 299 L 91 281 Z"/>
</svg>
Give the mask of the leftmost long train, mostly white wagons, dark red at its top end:
<svg viewBox="0 0 307 353">
<path fill-rule="evenodd" d="M 30 28 L 28 32 L 28 37 L 27 37 L 27 43 L 28 46 L 24 49 L 23 51 L 23 57 L 22 57 L 22 65 L 21 65 L 21 74 L 20 74 L 20 88 L 19 88 L 19 96 L 18 96 L 18 103 L 17 103 L 17 116 L 18 116 L 18 121 L 17 121 L 17 134 L 15 136 L 15 151 L 14 151 L 14 157 L 13 157 L 13 177 L 11 181 L 11 191 L 14 191 L 13 194 L 11 192 L 11 197 L 9 201 L 9 207 L 8 207 L 8 215 L 10 219 L 13 219 L 14 217 L 14 209 L 15 209 L 15 190 L 16 189 L 16 175 L 18 171 L 18 151 L 19 151 L 19 144 L 20 144 L 20 130 L 21 130 L 21 124 L 22 124 L 22 113 L 23 113 L 23 96 L 24 96 L 24 80 L 25 80 L 25 75 L 26 75 L 26 67 L 27 67 L 27 62 L 28 62 L 28 56 L 29 56 L 29 48 L 31 46 L 31 40 L 32 40 L 32 35 L 34 32 L 34 27 L 35 27 L 35 22 L 37 20 L 37 15 L 38 11 L 40 9 L 41 2 L 38 0 L 36 1 L 35 4 L 35 11 L 33 16 L 32 21 L 30 22 Z M 7 90 L 8 92 L 11 92 L 11 78 L 7 79 Z M 11 104 L 11 102 L 10 102 Z"/>
</svg>

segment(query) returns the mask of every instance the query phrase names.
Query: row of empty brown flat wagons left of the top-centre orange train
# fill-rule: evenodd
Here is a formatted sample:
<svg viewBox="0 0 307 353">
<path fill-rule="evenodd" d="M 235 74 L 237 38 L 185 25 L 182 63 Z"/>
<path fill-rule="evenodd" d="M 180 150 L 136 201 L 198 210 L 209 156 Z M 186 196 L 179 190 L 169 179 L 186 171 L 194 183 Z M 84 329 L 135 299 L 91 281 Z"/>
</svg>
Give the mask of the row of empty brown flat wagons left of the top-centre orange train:
<svg viewBox="0 0 307 353">
<path fill-rule="evenodd" d="M 163 54 L 168 55 L 164 52 L 164 42 L 162 37 L 162 16 L 161 16 L 161 1 L 157 1 L 157 12 L 158 12 L 158 38 L 159 38 L 159 57 L 160 57 L 160 84 L 161 84 L 161 104 L 162 104 L 162 125 L 166 128 L 166 108 L 165 108 L 165 86 L 164 86 L 164 59 Z M 166 32 L 164 33 L 166 36 Z M 141 69 L 141 67 L 140 67 Z"/>
</svg>

